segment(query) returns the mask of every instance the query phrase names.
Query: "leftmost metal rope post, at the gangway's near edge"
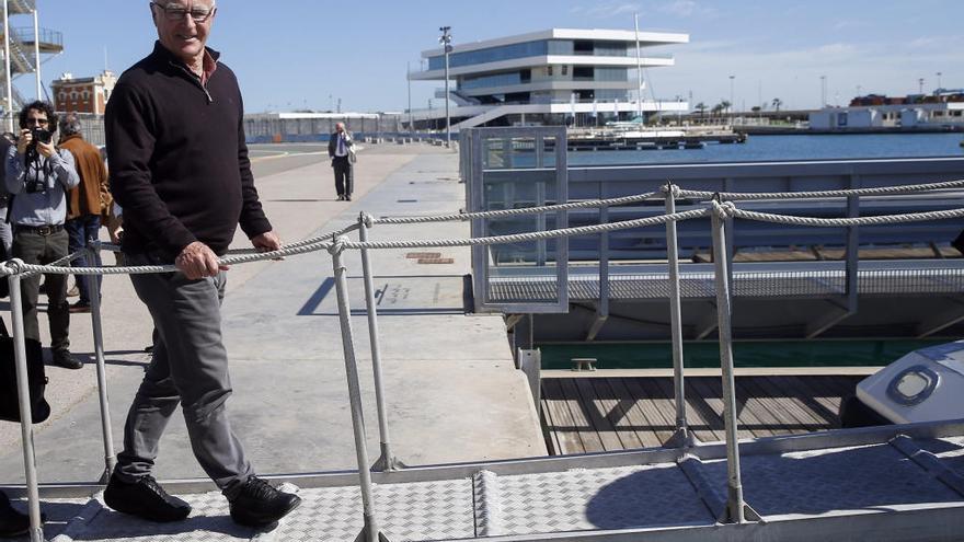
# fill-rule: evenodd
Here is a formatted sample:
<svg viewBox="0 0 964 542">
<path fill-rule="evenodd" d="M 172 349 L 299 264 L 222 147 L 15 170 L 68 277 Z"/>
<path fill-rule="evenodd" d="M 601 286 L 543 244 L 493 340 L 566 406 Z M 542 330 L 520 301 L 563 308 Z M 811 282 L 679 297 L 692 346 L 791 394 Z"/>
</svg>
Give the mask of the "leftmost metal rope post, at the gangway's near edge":
<svg viewBox="0 0 964 542">
<path fill-rule="evenodd" d="M 37 488 L 37 458 L 34 452 L 33 412 L 31 411 L 30 380 L 26 372 L 20 275 L 10 275 L 8 280 L 10 281 L 10 320 L 13 326 L 13 357 L 16 367 L 16 397 L 20 404 L 20 431 L 23 442 L 23 470 L 31 517 L 30 539 L 31 542 L 43 542 L 44 528 L 41 523 L 41 494 Z"/>
</svg>

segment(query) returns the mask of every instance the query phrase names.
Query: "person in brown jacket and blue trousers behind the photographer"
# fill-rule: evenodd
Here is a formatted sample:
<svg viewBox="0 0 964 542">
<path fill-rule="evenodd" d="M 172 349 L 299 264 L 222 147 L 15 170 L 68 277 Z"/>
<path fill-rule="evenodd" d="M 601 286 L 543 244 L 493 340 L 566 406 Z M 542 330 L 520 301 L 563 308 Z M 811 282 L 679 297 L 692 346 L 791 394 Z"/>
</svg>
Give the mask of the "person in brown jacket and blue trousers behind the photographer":
<svg viewBox="0 0 964 542">
<path fill-rule="evenodd" d="M 60 118 L 60 148 L 73 154 L 80 184 L 70 191 L 67 198 L 68 252 L 71 254 L 88 247 L 100 237 L 101 215 L 113 204 L 107 189 L 107 169 L 96 147 L 83 140 L 80 135 L 80 119 L 73 113 Z M 94 253 L 93 261 L 85 256 L 73 261 L 78 267 L 100 267 L 101 256 Z M 90 288 L 88 276 L 77 275 L 77 289 L 80 299 L 70 305 L 70 312 L 90 312 Z M 102 277 L 96 275 L 97 290 Z"/>
</svg>

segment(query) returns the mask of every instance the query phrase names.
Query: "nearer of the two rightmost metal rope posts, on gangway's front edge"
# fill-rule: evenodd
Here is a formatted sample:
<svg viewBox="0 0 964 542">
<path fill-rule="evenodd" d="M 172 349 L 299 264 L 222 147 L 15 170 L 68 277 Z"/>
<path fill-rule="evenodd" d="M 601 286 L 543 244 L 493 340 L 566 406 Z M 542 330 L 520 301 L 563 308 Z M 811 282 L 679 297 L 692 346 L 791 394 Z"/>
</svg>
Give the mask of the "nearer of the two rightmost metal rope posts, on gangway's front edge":
<svg viewBox="0 0 964 542">
<path fill-rule="evenodd" d="M 723 369 L 723 423 L 726 431 L 727 495 L 724 522 L 744 523 L 743 483 L 739 475 L 739 443 L 736 434 L 736 387 L 733 379 L 733 343 L 730 308 L 730 274 L 723 220 L 713 212 L 713 266 L 716 284 L 716 319 L 720 333 L 720 366 Z"/>
</svg>

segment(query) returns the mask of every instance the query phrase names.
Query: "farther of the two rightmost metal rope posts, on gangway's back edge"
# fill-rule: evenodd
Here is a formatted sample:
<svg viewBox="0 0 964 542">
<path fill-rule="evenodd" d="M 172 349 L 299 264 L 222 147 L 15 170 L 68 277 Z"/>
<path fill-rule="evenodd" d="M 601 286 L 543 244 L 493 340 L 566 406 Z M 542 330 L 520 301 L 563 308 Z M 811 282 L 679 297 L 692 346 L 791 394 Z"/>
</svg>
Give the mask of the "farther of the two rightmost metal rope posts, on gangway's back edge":
<svg viewBox="0 0 964 542">
<path fill-rule="evenodd" d="M 676 212 L 676 195 L 673 183 L 666 184 L 666 214 Z M 676 234 L 676 221 L 666 222 L 666 255 L 669 265 L 669 319 L 673 333 L 673 382 L 676 401 L 676 435 L 674 440 L 679 446 L 692 443 L 689 427 L 686 423 L 686 390 L 684 388 L 682 357 L 682 301 L 679 292 L 679 247 Z"/>
</svg>

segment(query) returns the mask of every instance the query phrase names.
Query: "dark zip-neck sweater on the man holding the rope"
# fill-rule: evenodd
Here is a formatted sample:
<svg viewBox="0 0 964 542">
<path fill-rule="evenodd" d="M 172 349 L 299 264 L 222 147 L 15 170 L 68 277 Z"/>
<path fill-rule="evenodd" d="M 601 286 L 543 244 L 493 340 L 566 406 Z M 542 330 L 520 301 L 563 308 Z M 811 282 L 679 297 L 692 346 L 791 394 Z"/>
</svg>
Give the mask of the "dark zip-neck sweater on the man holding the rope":
<svg viewBox="0 0 964 542">
<path fill-rule="evenodd" d="M 159 251 L 172 262 L 200 241 L 223 255 L 239 223 L 249 238 L 271 231 L 244 143 L 241 92 L 227 66 L 219 62 L 205 87 L 158 42 L 120 76 L 104 125 L 124 252 Z"/>
</svg>

